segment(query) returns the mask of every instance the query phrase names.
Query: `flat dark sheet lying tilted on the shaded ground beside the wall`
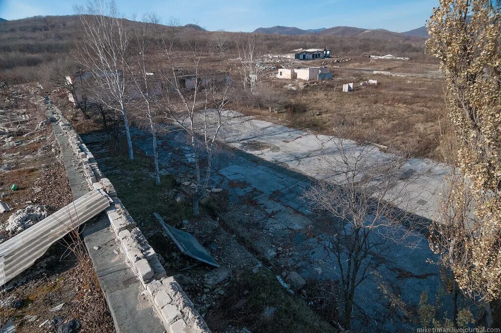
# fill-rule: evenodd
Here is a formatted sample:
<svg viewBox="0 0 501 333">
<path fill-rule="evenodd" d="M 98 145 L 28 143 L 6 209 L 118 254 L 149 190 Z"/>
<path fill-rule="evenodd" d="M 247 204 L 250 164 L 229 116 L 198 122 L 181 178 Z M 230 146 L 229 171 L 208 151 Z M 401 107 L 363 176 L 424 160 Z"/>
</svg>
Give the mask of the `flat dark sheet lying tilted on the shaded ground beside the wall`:
<svg viewBox="0 0 501 333">
<path fill-rule="evenodd" d="M 157 213 L 153 213 L 158 222 L 162 225 L 165 232 L 172 238 L 174 243 L 176 243 L 179 250 L 182 253 L 200 260 L 206 264 L 219 267 L 219 265 L 215 262 L 214 258 L 210 256 L 210 254 L 203 248 L 203 246 L 193 237 L 191 234 L 176 229 L 167 225 L 163 222 L 163 219 Z"/>
</svg>

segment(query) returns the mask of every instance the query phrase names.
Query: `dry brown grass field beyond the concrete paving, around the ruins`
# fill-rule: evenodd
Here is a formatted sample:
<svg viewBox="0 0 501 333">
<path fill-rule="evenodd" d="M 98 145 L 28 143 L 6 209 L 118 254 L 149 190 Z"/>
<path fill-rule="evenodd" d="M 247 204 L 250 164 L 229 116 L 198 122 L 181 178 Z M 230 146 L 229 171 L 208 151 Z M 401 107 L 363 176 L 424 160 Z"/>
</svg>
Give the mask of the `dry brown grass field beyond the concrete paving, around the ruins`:
<svg viewBox="0 0 501 333">
<path fill-rule="evenodd" d="M 423 72 L 438 69 L 426 64 L 407 62 L 401 71 Z M 337 135 L 348 129 L 348 138 L 372 142 L 410 151 L 414 156 L 444 160 L 440 147 L 440 127 L 446 126 L 443 81 L 421 77 L 372 75 L 366 72 L 331 69 L 334 80 L 309 85 L 297 91 L 284 85 L 296 86 L 301 80 L 269 78 L 264 83 L 268 94 L 287 94 L 283 104 L 288 112 L 270 113 L 266 108 L 240 108 L 246 113 L 273 117 L 272 121 L 307 128 L 317 133 Z M 367 79 L 378 80 L 377 86 L 359 86 L 353 92 L 342 92 L 344 83 Z M 442 120 L 441 125 L 439 119 Z M 270 120 L 270 119 L 269 119 Z M 443 128 L 442 128 L 443 130 Z"/>
</svg>

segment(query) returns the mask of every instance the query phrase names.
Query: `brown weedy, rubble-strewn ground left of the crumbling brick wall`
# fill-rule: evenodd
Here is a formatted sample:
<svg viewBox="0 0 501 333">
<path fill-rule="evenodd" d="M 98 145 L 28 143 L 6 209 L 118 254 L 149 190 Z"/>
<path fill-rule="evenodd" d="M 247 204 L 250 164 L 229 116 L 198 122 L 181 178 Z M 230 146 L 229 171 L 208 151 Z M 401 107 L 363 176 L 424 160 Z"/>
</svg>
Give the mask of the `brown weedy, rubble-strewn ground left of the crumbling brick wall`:
<svg viewBox="0 0 501 333">
<path fill-rule="evenodd" d="M 26 86 L 2 92 L 0 110 L 5 112 L 0 118 L 19 113 L 31 115 L 31 120 L 20 124 L 19 130 L 8 127 L 0 136 L 0 193 L 12 209 L 1 214 L 2 226 L 13 212 L 28 205 L 44 205 L 50 215 L 72 201 L 52 125 L 38 126 L 45 119 L 45 111 L 30 102 L 37 94 Z M 17 191 L 11 190 L 13 184 L 18 186 Z M 7 232 L 2 228 L 0 241 L 16 233 L 19 231 Z M 62 325 L 75 319 L 82 331 L 114 331 L 89 257 L 82 249 L 81 260 L 77 260 L 68 250 L 69 244 L 73 244 L 72 238 L 63 238 L 0 289 L 0 328 L 12 322 L 17 332 L 49 332 L 62 329 Z M 60 310 L 50 311 L 62 303 Z"/>
</svg>

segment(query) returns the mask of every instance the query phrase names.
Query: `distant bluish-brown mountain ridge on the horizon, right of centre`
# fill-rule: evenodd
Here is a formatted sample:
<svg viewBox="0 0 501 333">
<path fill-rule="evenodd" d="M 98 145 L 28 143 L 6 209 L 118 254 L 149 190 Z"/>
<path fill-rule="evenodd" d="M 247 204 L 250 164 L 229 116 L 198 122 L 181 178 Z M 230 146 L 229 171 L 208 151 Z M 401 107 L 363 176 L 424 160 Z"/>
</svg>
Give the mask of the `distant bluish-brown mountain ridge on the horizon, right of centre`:
<svg viewBox="0 0 501 333">
<path fill-rule="evenodd" d="M 258 34 L 278 34 L 278 35 L 308 35 L 317 34 L 321 36 L 343 36 L 343 37 L 367 37 L 367 38 L 396 38 L 402 39 L 405 36 L 424 38 L 429 37 L 426 27 L 420 27 L 404 33 L 396 33 L 385 29 L 363 29 L 356 27 L 332 27 L 320 29 L 299 29 L 296 27 L 275 26 L 270 28 L 258 28 L 254 31 Z"/>
</svg>

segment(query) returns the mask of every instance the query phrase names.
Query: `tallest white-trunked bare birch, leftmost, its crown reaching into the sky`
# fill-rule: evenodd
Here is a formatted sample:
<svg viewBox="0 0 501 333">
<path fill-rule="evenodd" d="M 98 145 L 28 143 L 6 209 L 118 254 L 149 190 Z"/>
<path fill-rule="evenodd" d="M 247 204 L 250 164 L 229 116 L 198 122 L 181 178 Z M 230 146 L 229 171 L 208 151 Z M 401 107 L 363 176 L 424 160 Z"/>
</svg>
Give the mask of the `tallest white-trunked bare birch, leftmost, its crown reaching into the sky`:
<svg viewBox="0 0 501 333">
<path fill-rule="evenodd" d="M 107 109 L 121 114 L 125 127 L 129 159 L 134 159 L 129 130 L 130 35 L 127 25 L 119 18 L 113 0 L 89 0 L 77 8 L 82 23 L 82 42 L 77 44 L 77 62 L 93 80 L 90 93 Z"/>
</svg>

